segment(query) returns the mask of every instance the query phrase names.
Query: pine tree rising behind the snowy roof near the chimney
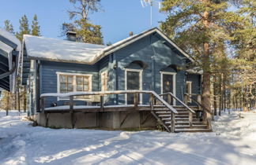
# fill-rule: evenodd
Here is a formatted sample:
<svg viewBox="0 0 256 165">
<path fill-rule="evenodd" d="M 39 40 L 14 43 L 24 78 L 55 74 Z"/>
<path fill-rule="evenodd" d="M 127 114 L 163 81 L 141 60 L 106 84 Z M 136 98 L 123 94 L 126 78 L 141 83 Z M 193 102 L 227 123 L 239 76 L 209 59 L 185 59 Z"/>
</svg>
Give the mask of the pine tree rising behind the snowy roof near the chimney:
<svg viewBox="0 0 256 165">
<path fill-rule="evenodd" d="M 88 19 L 88 13 L 97 12 L 100 9 L 100 0 L 70 0 L 76 10 L 69 10 L 70 20 L 77 18 L 72 23 L 62 24 L 62 35 L 67 31 L 77 32 L 77 38 L 81 42 L 103 44 L 103 36 L 100 25 L 92 24 Z"/>
</svg>

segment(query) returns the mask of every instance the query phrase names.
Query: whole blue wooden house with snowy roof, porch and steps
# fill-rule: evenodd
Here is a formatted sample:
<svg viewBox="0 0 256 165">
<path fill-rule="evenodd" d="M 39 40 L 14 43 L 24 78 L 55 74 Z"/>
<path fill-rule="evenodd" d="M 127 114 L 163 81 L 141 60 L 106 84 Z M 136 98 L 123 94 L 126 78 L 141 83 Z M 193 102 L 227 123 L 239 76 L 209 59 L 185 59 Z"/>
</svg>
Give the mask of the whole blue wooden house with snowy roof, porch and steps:
<svg viewBox="0 0 256 165">
<path fill-rule="evenodd" d="M 210 131 L 194 59 L 158 28 L 111 46 L 24 35 L 29 116 L 47 127 Z"/>
</svg>

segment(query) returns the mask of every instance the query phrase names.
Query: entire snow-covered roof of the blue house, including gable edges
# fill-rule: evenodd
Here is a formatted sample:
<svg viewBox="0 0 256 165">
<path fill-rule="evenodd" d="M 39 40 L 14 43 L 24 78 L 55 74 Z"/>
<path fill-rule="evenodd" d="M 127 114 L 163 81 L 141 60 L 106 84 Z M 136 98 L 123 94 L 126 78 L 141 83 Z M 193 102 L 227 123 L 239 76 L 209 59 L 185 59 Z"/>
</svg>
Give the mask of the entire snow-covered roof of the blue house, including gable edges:
<svg viewBox="0 0 256 165">
<path fill-rule="evenodd" d="M 156 27 L 125 38 L 119 42 L 115 42 L 111 46 L 71 42 L 62 39 L 45 38 L 32 35 L 24 35 L 24 45 L 27 49 L 28 58 L 31 59 L 95 64 L 108 54 L 113 53 L 116 50 L 154 32 L 166 39 L 175 47 L 175 49 L 178 49 L 180 53 L 183 53 L 185 57 L 190 59 L 190 61 L 194 61 L 194 59 L 186 54 L 183 49 L 180 49 L 179 46 L 172 42 L 171 39 Z"/>
</svg>

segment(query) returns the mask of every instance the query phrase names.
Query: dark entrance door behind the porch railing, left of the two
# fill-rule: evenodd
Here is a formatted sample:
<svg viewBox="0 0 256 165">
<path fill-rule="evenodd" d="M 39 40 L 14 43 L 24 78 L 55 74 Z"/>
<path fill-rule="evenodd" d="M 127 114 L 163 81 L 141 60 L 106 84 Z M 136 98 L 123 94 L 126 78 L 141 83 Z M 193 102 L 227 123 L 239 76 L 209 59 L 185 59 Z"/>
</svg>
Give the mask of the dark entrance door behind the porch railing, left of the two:
<svg viewBox="0 0 256 165">
<path fill-rule="evenodd" d="M 141 90 L 141 71 L 126 71 L 126 90 Z M 138 96 L 138 102 L 140 97 Z M 134 94 L 127 94 L 127 105 L 134 104 Z"/>
</svg>

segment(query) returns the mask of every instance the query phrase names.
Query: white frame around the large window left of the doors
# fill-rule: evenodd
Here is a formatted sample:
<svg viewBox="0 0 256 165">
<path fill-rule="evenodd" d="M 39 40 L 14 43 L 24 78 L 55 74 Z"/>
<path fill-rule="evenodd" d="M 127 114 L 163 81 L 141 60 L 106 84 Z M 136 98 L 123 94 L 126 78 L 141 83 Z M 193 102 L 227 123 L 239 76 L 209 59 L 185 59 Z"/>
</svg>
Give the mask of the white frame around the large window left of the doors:
<svg viewBox="0 0 256 165">
<path fill-rule="evenodd" d="M 81 74 L 81 73 L 70 73 L 70 72 L 56 72 L 57 75 L 57 92 L 60 94 L 60 81 L 59 75 L 73 75 L 73 92 L 77 92 L 77 76 L 88 76 L 89 77 L 89 90 L 92 91 L 92 74 Z M 69 100 L 68 98 L 57 97 L 57 101 Z M 81 101 L 92 101 L 92 96 L 88 99 L 76 98 L 75 100 Z"/>
</svg>

